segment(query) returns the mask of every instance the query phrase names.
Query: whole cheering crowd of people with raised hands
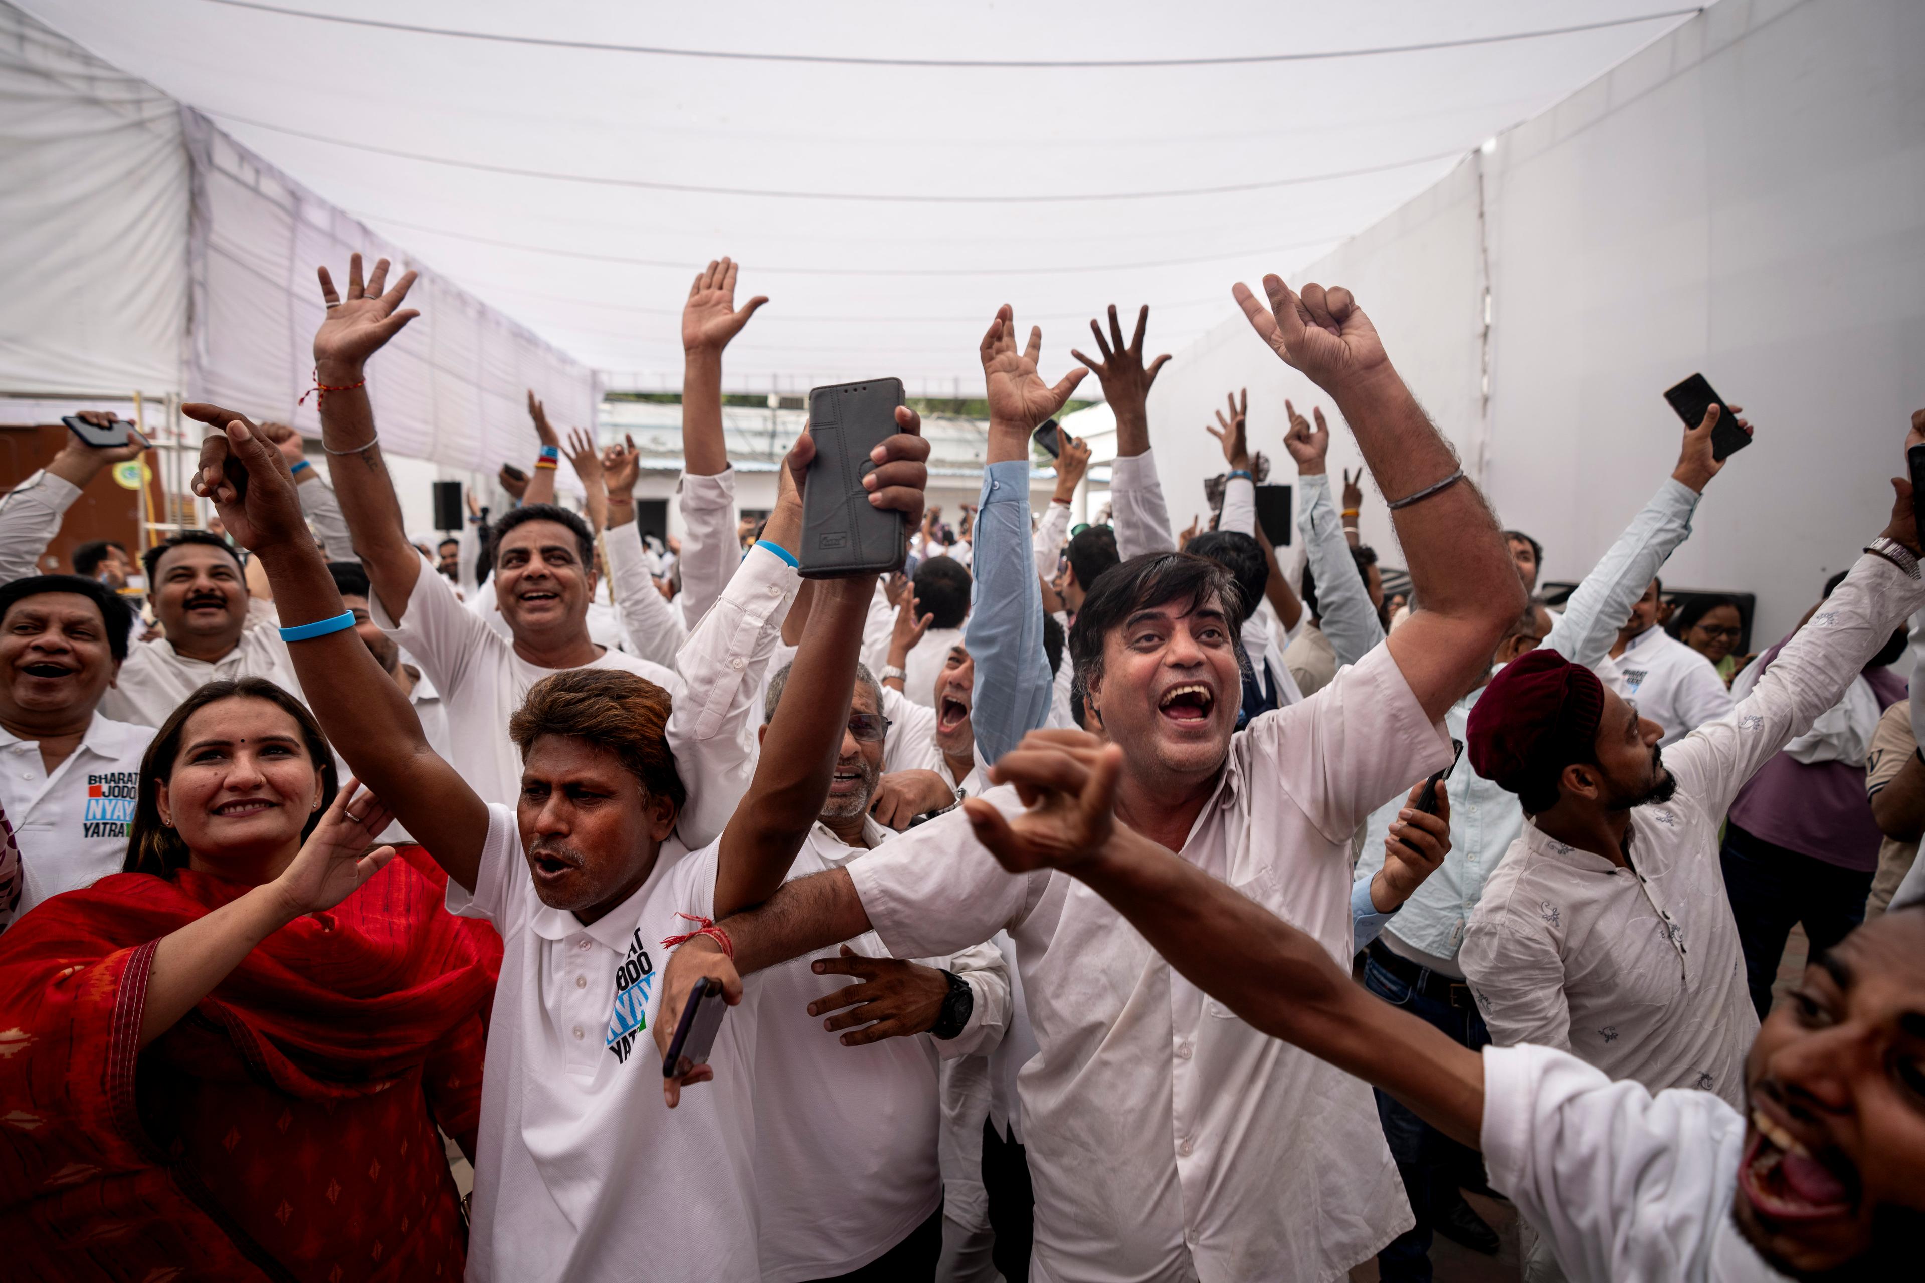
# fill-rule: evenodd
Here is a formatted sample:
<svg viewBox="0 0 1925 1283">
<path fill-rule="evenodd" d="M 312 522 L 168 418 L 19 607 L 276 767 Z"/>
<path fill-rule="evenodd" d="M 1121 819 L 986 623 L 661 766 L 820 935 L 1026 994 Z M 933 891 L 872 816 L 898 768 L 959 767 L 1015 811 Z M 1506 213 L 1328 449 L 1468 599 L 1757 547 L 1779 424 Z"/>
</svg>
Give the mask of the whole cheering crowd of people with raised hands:
<svg viewBox="0 0 1925 1283">
<path fill-rule="evenodd" d="M 924 502 L 899 408 L 862 485 L 901 566 L 803 579 L 814 439 L 739 519 L 724 354 L 766 300 L 718 260 L 678 537 L 637 529 L 631 440 L 531 392 L 514 506 L 433 542 L 368 392 L 410 283 L 320 271 L 325 477 L 189 404 L 218 529 L 40 573 L 137 439 L 0 500 L 10 1271 L 1428 1279 L 1434 1235 L 1498 1250 L 1465 1191 L 1517 1206 L 1528 1279 L 1915 1268 L 1904 481 L 1740 656 L 1748 598 L 1659 577 L 1752 462 L 1713 408 L 1546 600 L 1349 292 L 1265 277 L 1236 302 L 1365 464 L 1332 487 L 1324 408 L 1286 402 L 1296 550 L 1247 394 L 1172 527 L 1147 308 L 1049 383 L 1005 306 L 978 504 Z M 1090 446 L 1057 429 L 1032 512 L 1032 435 L 1088 373 L 1116 458 L 1072 525 Z M 1894 464 L 1919 442 L 1925 412 Z M 670 1062 L 710 987 L 712 1050 Z"/>
</svg>

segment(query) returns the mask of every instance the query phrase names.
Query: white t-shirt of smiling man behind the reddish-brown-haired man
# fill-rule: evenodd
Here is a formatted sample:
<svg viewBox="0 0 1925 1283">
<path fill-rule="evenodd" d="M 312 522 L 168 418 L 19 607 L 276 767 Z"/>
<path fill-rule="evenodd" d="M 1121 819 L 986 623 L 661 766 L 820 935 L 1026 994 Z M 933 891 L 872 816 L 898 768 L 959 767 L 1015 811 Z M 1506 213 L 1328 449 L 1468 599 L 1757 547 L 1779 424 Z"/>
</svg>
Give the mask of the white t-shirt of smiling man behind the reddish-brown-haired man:
<svg viewBox="0 0 1925 1283">
<path fill-rule="evenodd" d="M 449 762 L 483 800 L 512 806 L 522 792 L 522 754 L 508 739 L 508 717 L 537 681 L 566 669 L 541 667 L 518 656 L 514 642 L 462 608 L 454 585 L 435 573 L 427 558 L 422 558 L 422 573 L 398 625 L 379 594 L 368 602 L 368 612 L 408 648 L 441 692 L 449 710 Z M 678 700 L 683 692 L 681 677 L 622 650 L 603 650 L 581 667 L 637 673 Z M 693 791 L 695 781 L 683 777 L 683 783 Z"/>
</svg>

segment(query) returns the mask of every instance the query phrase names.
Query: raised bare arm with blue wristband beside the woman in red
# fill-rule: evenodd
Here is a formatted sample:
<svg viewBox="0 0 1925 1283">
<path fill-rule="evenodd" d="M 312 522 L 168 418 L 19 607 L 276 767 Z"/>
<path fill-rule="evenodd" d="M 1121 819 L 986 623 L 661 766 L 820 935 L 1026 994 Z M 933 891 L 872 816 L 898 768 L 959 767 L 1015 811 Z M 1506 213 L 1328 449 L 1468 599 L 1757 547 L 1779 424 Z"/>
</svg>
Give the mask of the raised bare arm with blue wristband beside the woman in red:
<svg viewBox="0 0 1925 1283">
<path fill-rule="evenodd" d="M 346 614 L 302 521 L 295 479 L 279 452 L 231 410 L 189 404 L 181 412 L 223 429 L 202 444 L 194 492 L 214 500 L 227 533 L 268 567 L 281 623 L 298 627 Z M 235 496 L 223 473 L 229 454 L 246 467 L 244 500 Z M 420 566 L 420 554 L 410 548 L 408 556 Z M 410 833 L 420 835 L 449 877 L 474 891 L 487 841 L 487 804 L 435 756 L 408 696 L 381 671 L 360 635 L 341 629 L 291 641 L 287 652 L 308 708 L 348 767 Z"/>
</svg>

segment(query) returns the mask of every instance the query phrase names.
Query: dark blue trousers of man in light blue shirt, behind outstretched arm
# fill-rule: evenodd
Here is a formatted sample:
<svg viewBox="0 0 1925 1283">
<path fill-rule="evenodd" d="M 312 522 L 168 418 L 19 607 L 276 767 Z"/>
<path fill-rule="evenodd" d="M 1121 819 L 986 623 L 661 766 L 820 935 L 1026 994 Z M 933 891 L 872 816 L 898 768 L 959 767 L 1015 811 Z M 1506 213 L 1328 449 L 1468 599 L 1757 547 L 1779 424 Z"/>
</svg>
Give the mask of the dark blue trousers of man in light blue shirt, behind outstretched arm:
<svg viewBox="0 0 1925 1283">
<path fill-rule="evenodd" d="M 1450 977 L 1398 958 L 1378 943 L 1371 944 L 1363 964 L 1363 987 L 1471 1050 L 1490 1043 L 1484 1018 L 1476 1014 L 1471 991 L 1461 981 L 1451 985 Z M 1482 1166 L 1475 1150 L 1451 1141 L 1380 1091 L 1376 1118 L 1384 1123 L 1384 1141 L 1390 1143 L 1390 1156 L 1398 1164 L 1398 1175 L 1403 1177 L 1403 1195 L 1411 1200 L 1411 1216 L 1417 1218 L 1413 1229 L 1392 1239 L 1390 1246 L 1376 1254 L 1376 1277 L 1384 1283 L 1428 1279 L 1436 1216 L 1450 1206 L 1450 1200 L 1461 1198 L 1459 1183 L 1480 1183 Z"/>
</svg>

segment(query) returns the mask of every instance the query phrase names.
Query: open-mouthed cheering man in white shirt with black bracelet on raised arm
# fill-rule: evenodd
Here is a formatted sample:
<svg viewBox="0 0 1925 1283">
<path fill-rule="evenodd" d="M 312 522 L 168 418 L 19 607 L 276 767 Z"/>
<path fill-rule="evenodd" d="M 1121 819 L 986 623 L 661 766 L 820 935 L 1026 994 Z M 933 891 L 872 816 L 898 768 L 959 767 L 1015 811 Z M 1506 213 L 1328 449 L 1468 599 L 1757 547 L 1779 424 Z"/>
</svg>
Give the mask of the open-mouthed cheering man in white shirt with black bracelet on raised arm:
<svg viewBox="0 0 1925 1283">
<path fill-rule="evenodd" d="M 1315 698 L 1244 731 L 1236 589 L 1215 562 L 1147 554 L 1105 573 L 1070 652 L 1120 746 L 1118 816 L 1348 964 L 1351 833 L 1450 762 L 1436 721 L 1484 675 L 1525 592 L 1482 496 L 1349 292 L 1265 287 L 1272 310 L 1244 287 L 1238 302 L 1351 423 L 1392 496 L 1423 610 Z M 1032 331 L 1018 354 L 1007 310 L 984 342 L 991 460 L 1024 450 L 1068 396 L 1070 381 L 1038 377 L 1040 346 Z M 1022 808 L 1013 789 L 982 802 Z M 868 929 L 897 956 L 930 956 L 1005 927 L 1040 1044 L 1018 1079 L 1032 1277 L 1332 1279 L 1411 1225 L 1363 1083 L 1209 1002 L 1070 879 L 1009 877 L 964 814 L 730 919 L 733 964 L 716 941 L 693 941 L 664 981 L 662 1019 L 703 973 L 733 983 L 735 968 Z"/>
</svg>

